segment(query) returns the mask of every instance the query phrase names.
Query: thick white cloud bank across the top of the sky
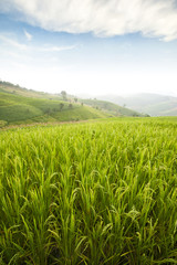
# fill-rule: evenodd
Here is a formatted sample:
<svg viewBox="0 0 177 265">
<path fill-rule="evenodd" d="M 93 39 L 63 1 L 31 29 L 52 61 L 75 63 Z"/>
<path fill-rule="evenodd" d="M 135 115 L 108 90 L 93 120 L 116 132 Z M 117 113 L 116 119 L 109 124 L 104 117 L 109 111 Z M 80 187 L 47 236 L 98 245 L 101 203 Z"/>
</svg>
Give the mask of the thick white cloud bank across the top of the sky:
<svg viewBox="0 0 177 265">
<path fill-rule="evenodd" d="M 3 11 L 52 31 L 118 35 L 142 32 L 177 39 L 176 0 L 0 0 Z"/>
</svg>

